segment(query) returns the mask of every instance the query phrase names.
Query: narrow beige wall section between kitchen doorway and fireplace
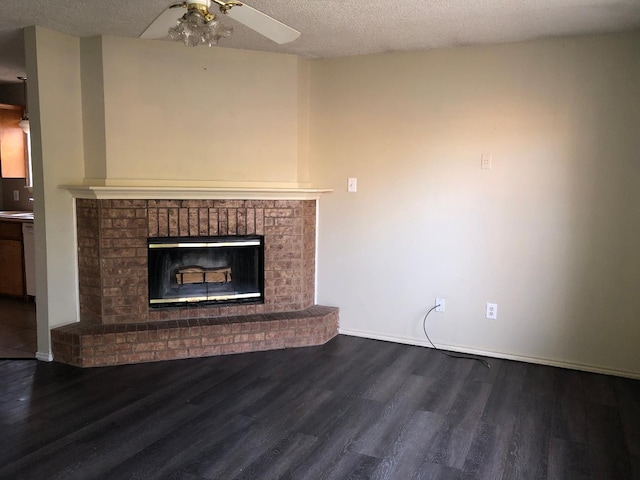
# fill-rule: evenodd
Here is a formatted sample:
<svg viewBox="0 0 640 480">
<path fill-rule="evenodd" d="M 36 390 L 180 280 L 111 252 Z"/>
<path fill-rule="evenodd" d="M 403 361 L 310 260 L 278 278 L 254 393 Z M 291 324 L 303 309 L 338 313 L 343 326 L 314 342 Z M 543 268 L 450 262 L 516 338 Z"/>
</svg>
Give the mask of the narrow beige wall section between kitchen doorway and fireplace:
<svg viewBox="0 0 640 480">
<path fill-rule="evenodd" d="M 75 215 L 58 188 L 84 176 L 80 42 L 39 27 L 25 30 L 34 177 L 38 356 L 50 355 L 49 328 L 76 321 Z"/>
</svg>

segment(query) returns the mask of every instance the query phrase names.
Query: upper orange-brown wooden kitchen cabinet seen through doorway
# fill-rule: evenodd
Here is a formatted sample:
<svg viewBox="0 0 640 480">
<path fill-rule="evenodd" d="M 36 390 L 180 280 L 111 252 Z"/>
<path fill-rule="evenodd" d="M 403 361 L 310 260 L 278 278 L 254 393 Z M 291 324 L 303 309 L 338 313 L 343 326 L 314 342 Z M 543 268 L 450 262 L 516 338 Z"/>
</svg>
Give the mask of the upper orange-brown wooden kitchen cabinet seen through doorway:
<svg viewBox="0 0 640 480">
<path fill-rule="evenodd" d="M 26 178 L 26 135 L 18 125 L 22 107 L 0 104 L 0 167 L 2 178 Z"/>
</svg>

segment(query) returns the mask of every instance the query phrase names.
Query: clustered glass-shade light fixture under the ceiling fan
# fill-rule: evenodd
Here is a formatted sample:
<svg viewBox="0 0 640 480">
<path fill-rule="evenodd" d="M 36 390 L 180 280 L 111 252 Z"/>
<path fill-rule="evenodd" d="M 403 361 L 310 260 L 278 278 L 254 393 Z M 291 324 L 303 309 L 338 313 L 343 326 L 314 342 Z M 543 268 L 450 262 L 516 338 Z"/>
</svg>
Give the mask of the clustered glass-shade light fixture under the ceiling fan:
<svg viewBox="0 0 640 480">
<path fill-rule="evenodd" d="M 233 28 L 220 23 L 215 15 L 200 5 L 189 6 L 189 11 L 180 17 L 175 27 L 169 29 L 172 40 L 183 42 L 190 47 L 205 45 L 211 47 L 218 44 L 220 38 L 231 36 Z"/>
</svg>

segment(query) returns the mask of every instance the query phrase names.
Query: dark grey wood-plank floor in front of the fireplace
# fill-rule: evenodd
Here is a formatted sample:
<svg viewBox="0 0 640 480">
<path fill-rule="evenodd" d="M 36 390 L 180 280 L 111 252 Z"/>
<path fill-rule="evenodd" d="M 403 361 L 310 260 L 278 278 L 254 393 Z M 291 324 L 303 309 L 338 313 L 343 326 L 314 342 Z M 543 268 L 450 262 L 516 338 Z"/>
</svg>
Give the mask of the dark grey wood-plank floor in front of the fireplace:
<svg viewBox="0 0 640 480">
<path fill-rule="evenodd" d="M 0 362 L 2 479 L 640 479 L 640 382 L 339 336 Z"/>
</svg>

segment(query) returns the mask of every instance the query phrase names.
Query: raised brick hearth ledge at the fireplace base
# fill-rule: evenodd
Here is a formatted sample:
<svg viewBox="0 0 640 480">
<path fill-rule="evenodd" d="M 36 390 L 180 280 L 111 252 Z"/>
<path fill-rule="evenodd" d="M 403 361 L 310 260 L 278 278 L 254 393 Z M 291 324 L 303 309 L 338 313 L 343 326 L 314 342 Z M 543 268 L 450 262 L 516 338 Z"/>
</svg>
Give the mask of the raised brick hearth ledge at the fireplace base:
<svg viewBox="0 0 640 480">
<path fill-rule="evenodd" d="M 320 345 L 338 329 L 338 309 L 110 325 L 52 331 L 57 361 L 78 367 L 154 362 Z"/>
</svg>

